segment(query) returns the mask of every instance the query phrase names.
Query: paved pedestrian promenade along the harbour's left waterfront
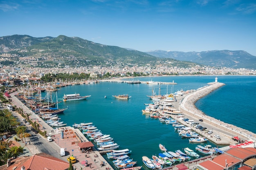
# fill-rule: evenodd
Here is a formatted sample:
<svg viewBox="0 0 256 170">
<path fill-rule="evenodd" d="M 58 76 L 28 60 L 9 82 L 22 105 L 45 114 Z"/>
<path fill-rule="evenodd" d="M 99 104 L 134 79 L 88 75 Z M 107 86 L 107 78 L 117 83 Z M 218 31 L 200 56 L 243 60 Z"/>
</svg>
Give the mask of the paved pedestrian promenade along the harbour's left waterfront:
<svg viewBox="0 0 256 170">
<path fill-rule="evenodd" d="M 40 130 L 43 132 L 46 131 L 47 135 L 52 136 L 53 142 L 48 142 L 47 144 L 51 145 L 56 152 L 59 152 L 59 159 L 62 159 L 63 161 L 67 161 L 67 157 L 74 155 L 76 157 L 77 162 L 74 163 L 74 167 L 76 169 L 81 169 L 81 170 L 86 170 L 86 169 L 91 169 L 91 170 L 106 170 L 106 168 L 109 168 L 110 170 L 113 170 L 113 168 L 108 164 L 108 162 L 101 156 L 101 154 L 97 151 L 96 148 L 92 147 L 90 150 L 92 152 L 88 153 L 82 153 L 81 150 L 79 149 L 78 143 L 83 141 L 83 142 L 88 142 L 88 139 L 82 134 L 82 132 L 79 129 L 74 129 L 73 127 L 62 127 L 62 128 L 52 128 L 49 126 L 43 119 L 41 119 L 37 114 L 34 114 L 29 108 L 24 105 L 16 96 L 14 96 L 16 92 L 13 92 L 10 94 L 12 104 L 16 105 L 17 107 L 21 107 L 23 109 L 23 112 L 25 113 L 31 113 L 29 116 L 29 119 L 31 121 L 37 121 L 38 124 L 40 125 Z M 17 116 L 18 119 L 22 119 L 23 117 L 14 112 L 13 114 Z M 26 125 L 31 126 L 31 125 Z M 61 139 L 61 130 L 64 130 L 64 138 Z M 12 136 L 13 138 L 14 136 Z M 44 136 L 41 136 L 45 141 L 47 139 Z M 25 145 L 24 143 L 21 143 L 21 145 Z M 60 156 L 60 148 L 65 148 L 66 155 L 61 157 Z M 40 153 L 41 151 L 38 150 L 36 145 L 32 144 L 27 145 L 25 147 L 27 149 L 25 154 L 26 156 L 32 155 L 33 152 L 34 154 Z M 30 151 L 30 152 L 29 152 Z M 95 155 L 98 155 L 98 157 L 94 157 Z M 95 161 L 94 161 L 95 159 Z M 84 166 L 83 161 L 88 161 L 87 166 Z M 101 161 L 105 162 L 105 166 L 100 166 Z"/>
</svg>

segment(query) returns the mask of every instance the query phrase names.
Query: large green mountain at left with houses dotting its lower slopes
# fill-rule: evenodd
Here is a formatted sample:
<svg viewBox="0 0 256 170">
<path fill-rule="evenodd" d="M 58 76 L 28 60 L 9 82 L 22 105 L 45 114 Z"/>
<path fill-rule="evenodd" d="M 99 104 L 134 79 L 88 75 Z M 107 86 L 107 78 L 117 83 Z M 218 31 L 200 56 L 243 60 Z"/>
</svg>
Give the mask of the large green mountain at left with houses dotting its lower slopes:
<svg viewBox="0 0 256 170">
<path fill-rule="evenodd" d="M 168 65 L 193 67 L 196 64 L 172 58 L 157 58 L 137 50 L 108 46 L 78 37 L 58 36 L 34 38 L 27 35 L 0 37 L 2 61 L 34 67 L 64 67 L 91 65 Z M 7 54 L 11 54 L 8 58 Z M 7 57 L 4 57 L 7 56 Z M 24 59 L 23 59 L 24 58 Z M 3 60 L 4 59 L 4 60 Z"/>
</svg>

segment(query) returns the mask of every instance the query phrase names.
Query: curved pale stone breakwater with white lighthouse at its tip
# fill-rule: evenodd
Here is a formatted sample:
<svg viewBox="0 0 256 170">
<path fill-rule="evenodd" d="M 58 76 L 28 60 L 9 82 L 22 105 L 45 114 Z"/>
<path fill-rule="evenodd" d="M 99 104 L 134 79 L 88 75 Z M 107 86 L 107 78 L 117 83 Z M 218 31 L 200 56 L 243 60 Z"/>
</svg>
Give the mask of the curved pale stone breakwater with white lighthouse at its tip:
<svg viewBox="0 0 256 170">
<path fill-rule="evenodd" d="M 209 86 L 202 87 L 201 89 L 196 90 L 195 92 L 187 95 L 182 104 L 180 105 L 180 110 L 184 114 L 188 114 L 189 116 L 193 116 L 195 119 L 203 119 L 206 123 L 213 125 L 214 127 L 220 129 L 220 131 L 225 132 L 224 136 L 231 139 L 233 136 L 240 136 L 241 140 L 256 140 L 256 134 L 249 132 L 248 130 L 239 128 L 235 125 L 231 125 L 215 119 L 213 117 L 207 116 L 201 110 L 198 110 L 195 107 L 195 102 L 197 102 L 200 98 L 208 95 L 214 90 L 225 85 L 224 83 L 208 83 Z"/>
</svg>

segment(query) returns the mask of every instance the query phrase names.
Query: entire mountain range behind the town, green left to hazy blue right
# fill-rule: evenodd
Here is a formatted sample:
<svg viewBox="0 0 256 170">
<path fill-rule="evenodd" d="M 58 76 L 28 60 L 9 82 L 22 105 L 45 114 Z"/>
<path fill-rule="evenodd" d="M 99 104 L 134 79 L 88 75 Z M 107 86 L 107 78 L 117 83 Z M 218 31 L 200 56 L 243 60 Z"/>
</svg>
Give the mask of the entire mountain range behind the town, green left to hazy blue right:
<svg viewBox="0 0 256 170">
<path fill-rule="evenodd" d="M 8 55 L 9 56 L 8 56 Z M 34 67 L 74 67 L 86 65 L 138 65 L 157 67 L 193 67 L 209 65 L 256 69 L 256 57 L 246 51 L 214 50 L 202 52 L 141 52 L 108 46 L 79 37 L 58 36 L 35 38 L 28 35 L 0 37 L 0 62 L 5 65 Z M 10 57 L 11 56 L 11 57 Z M 22 60 L 22 58 L 25 58 Z"/>
</svg>

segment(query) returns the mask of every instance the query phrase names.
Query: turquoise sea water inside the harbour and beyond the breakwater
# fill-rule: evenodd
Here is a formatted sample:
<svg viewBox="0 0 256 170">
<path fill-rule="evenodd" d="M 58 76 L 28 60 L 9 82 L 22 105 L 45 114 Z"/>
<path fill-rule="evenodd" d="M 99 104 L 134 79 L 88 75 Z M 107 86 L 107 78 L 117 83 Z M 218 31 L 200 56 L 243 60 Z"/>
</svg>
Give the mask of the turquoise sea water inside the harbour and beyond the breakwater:
<svg viewBox="0 0 256 170">
<path fill-rule="evenodd" d="M 140 81 L 151 79 L 176 82 L 177 85 L 168 85 L 169 93 L 180 89 L 198 89 L 213 82 L 215 76 L 139 78 Z M 200 99 L 196 106 L 209 116 L 256 133 L 252 126 L 256 120 L 256 76 L 218 76 L 218 81 L 226 85 Z M 144 103 L 151 102 L 146 95 L 151 95 L 152 89 L 158 94 L 159 85 L 101 82 L 61 87 L 58 90 L 58 98 L 63 94 L 73 93 L 92 96 L 84 101 L 61 103 L 59 107 L 68 106 L 69 109 L 59 116 L 61 121 L 70 126 L 74 123 L 93 122 L 103 134 L 110 134 L 114 138 L 115 143 L 120 145 L 119 149 L 132 150 L 130 157 L 138 161 L 137 166 L 143 166 L 142 156 L 158 156 L 161 152 L 159 143 L 165 145 L 168 151 L 182 150 L 186 147 L 195 150 L 198 144 L 191 144 L 188 139 L 182 139 L 172 125 L 166 125 L 158 119 L 142 114 Z M 160 89 L 161 94 L 167 93 L 167 85 L 160 85 Z M 118 94 L 129 94 L 132 98 L 119 100 L 112 97 Z M 210 142 L 208 144 L 215 146 Z"/>
</svg>

